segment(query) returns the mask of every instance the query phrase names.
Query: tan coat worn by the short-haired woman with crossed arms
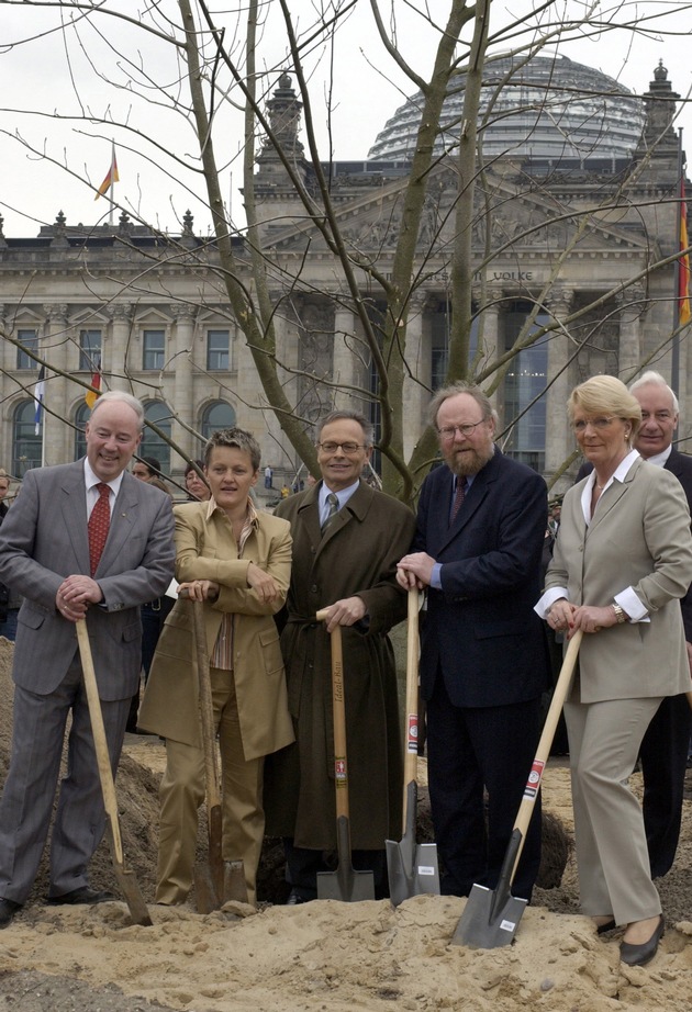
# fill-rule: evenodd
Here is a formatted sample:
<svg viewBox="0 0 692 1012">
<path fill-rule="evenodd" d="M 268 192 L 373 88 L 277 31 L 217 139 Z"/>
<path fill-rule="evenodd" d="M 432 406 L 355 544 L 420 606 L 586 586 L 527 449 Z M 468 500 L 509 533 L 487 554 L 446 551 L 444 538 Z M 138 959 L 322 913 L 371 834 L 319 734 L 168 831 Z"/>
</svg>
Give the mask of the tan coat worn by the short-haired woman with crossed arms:
<svg viewBox="0 0 692 1012">
<path fill-rule="evenodd" d="M 283 662 L 274 615 L 286 600 L 291 572 L 291 535 L 286 520 L 259 514 L 257 527 L 237 558 L 232 526 L 221 509 L 207 516 L 208 503 L 176 506 L 176 577 L 213 580 L 221 591 L 204 605 L 207 649 L 211 656 L 223 614 L 233 612 L 235 688 L 246 760 L 257 758 L 293 741 L 288 712 Z M 270 605 L 247 586 L 254 562 L 281 587 Z M 201 747 L 192 606 L 180 598 L 166 619 L 147 682 L 138 724 Z"/>
</svg>

